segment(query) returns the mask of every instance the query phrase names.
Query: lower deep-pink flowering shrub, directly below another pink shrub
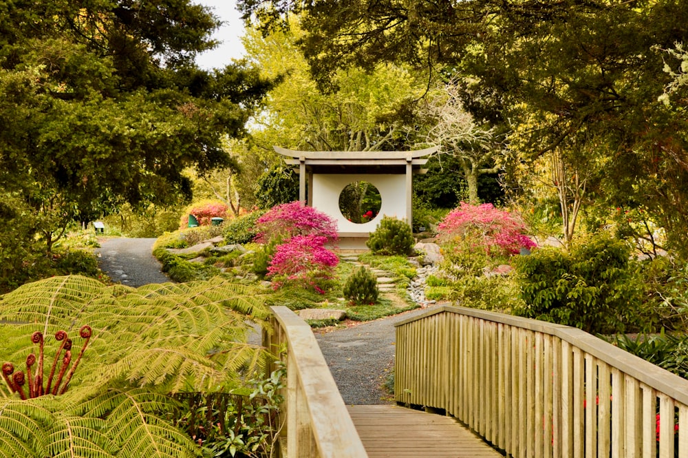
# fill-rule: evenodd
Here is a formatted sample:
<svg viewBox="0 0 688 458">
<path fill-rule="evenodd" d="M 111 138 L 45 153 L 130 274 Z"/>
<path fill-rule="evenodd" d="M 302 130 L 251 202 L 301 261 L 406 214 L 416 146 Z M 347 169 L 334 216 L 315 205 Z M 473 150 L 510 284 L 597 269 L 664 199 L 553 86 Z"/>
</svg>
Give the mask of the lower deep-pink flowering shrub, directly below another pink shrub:
<svg viewBox="0 0 688 458">
<path fill-rule="evenodd" d="M 268 267 L 268 277 L 275 279 L 275 287 L 284 282 L 303 282 L 323 293 L 315 284 L 316 278 L 332 278 L 339 259 L 325 248 L 325 236 L 294 236 L 277 245 Z"/>
</svg>

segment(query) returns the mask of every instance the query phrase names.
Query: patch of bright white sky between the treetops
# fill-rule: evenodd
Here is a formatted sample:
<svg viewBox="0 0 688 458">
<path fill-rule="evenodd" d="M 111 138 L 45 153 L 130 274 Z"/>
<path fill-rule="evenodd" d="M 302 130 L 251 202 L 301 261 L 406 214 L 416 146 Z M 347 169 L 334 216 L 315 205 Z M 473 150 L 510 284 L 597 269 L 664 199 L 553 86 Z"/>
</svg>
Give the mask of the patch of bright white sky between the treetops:
<svg viewBox="0 0 688 458">
<path fill-rule="evenodd" d="M 213 39 L 222 41 L 212 51 L 204 52 L 196 58 L 196 63 L 206 70 L 223 68 L 232 59 L 238 59 L 244 55 L 244 46 L 239 37 L 244 33 L 244 25 L 239 18 L 235 0 L 193 0 L 194 3 L 208 6 L 213 13 L 224 22 L 221 28 L 215 31 Z"/>
</svg>

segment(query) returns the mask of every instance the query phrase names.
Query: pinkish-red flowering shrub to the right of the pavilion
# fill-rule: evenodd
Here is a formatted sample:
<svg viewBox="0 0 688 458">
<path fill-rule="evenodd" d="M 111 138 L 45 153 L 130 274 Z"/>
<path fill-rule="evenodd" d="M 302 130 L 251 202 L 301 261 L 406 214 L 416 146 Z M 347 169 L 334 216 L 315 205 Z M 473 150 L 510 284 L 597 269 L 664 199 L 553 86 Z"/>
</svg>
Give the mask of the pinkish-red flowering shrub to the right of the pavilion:
<svg viewBox="0 0 688 458">
<path fill-rule="evenodd" d="M 522 248 L 535 247 L 535 242 L 525 232 L 526 226 L 517 216 L 496 209 L 492 204 L 461 202 L 460 207 L 451 211 L 438 225 L 438 238 L 470 239 L 491 254 L 516 254 Z"/>
</svg>

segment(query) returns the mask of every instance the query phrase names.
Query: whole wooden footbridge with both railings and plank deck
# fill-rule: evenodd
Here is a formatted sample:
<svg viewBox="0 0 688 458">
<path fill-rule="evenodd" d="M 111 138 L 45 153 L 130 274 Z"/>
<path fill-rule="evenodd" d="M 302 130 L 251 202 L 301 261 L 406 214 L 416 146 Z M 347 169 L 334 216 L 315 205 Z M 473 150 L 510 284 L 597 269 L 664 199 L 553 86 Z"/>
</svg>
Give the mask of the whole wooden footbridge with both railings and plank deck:
<svg viewBox="0 0 688 458">
<path fill-rule="evenodd" d="M 396 326 L 396 401 L 345 406 L 310 330 L 272 308 L 283 457 L 688 458 L 688 381 L 579 329 L 440 306 Z"/>
</svg>

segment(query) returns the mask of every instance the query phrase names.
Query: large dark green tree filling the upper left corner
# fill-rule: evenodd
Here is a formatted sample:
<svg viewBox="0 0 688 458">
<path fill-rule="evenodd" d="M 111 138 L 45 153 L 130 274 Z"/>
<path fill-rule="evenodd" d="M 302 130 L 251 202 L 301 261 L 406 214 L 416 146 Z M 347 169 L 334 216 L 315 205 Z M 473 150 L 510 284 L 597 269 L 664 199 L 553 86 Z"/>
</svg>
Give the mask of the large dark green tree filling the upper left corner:
<svg viewBox="0 0 688 458">
<path fill-rule="evenodd" d="M 189 0 L 0 0 L 0 193 L 48 250 L 72 221 L 188 197 L 182 171 L 230 164 L 269 84 L 206 72 L 218 21 Z M 0 247 L 0 248 L 4 248 Z"/>
</svg>

